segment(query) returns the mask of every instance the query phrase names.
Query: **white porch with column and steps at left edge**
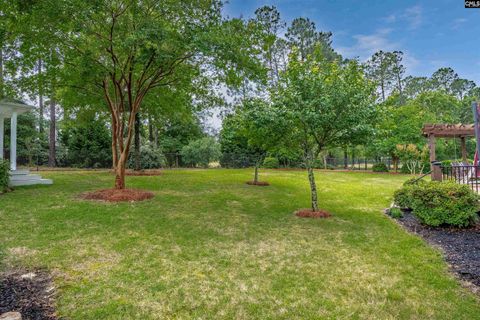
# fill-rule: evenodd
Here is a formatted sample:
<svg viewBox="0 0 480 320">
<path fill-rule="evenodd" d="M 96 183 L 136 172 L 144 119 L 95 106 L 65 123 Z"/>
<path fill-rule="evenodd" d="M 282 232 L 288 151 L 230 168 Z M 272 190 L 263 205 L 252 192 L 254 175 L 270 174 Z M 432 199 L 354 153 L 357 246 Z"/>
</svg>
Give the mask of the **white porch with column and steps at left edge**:
<svg viewBox="0 0 480 320">
<path fill-rule="evenodd" d="M 28 170 L 17 170 L 17 116 L 33 108 L 17 100 L 0 100 L 0 159 L 4 156 L 5 119 L 10 118 L 10 186 L 12 187 L 52 184 L 52 180 L 42 179 L 37 174 L 30 174 Z"/>
</svg>

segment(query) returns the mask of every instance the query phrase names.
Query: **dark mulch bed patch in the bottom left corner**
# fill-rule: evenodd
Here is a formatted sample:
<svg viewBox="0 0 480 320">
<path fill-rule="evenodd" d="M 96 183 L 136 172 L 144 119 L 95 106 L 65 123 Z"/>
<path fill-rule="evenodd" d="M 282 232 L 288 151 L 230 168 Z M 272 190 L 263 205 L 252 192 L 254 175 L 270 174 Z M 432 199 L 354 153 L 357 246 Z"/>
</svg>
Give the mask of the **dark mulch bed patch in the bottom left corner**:
<svg viewBox="0 0 480 320">
<path fill-rule="evenodd" d="M 0 315 L 19 312 L 23 320 L 58 319 L 53 307 L 55 288 L 45 271 L 0 274 Z"/>
</svg>

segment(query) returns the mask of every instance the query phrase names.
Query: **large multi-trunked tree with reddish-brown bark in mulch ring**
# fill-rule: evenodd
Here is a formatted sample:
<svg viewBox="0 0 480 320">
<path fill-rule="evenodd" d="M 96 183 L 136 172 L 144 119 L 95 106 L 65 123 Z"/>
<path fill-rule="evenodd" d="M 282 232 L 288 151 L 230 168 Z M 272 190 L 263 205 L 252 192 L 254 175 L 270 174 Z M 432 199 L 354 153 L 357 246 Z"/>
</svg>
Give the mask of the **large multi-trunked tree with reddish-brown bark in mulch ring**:
<svg viewBox="0 0 480 320">
<path fill-rule="evenodd" d="M 184 74 L 235 86 L 239 75 L 260 73 L 255 25 L 225 19 L 221 8 L 220 0 L 32 2 L 29 15 L 44 17 L 32 28 L 61 53 L 65 90 L 90 92 L 108 108 L 116 189 L 125 188 L 135 118 L 152 92 Z"/>
</svg>

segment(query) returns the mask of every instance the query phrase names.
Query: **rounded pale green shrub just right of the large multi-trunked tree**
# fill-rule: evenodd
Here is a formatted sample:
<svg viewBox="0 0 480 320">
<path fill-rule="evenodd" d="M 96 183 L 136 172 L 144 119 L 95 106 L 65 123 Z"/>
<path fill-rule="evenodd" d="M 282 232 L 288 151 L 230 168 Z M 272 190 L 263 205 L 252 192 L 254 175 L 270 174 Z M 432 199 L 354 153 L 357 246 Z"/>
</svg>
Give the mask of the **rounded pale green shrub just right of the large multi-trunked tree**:
<svg viewBox="0 0 480 320">
<path fill-rule="evenodd" d="M 219 160 L 220 145 L 211 137 L 198 139 L 183 147 L 181 155 L 186 165 L 206 168 L 209 163 Z"/>
</svg>

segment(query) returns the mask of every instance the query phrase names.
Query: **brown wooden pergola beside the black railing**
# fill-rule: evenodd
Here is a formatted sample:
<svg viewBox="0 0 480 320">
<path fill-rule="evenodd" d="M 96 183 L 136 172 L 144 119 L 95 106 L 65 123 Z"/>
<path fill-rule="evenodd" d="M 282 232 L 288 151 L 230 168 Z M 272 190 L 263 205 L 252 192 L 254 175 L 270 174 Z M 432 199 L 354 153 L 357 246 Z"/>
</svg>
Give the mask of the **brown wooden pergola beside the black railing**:
<svg viewBox="0 0 480 320">
<path fill-rule="evenodd" d="M 441 168 L 433 164 L 437 161 L 435 153 L 436 138 L 459 138 L 462 159 L 464 162 L 467 162 L 467 144 L 465 138 L 475 136 L 475 126 L 473 124 L 425 124 L 422 131 L 423 135 L 428 138 L 432 180 L 442 180 Z"/>
</svg>

